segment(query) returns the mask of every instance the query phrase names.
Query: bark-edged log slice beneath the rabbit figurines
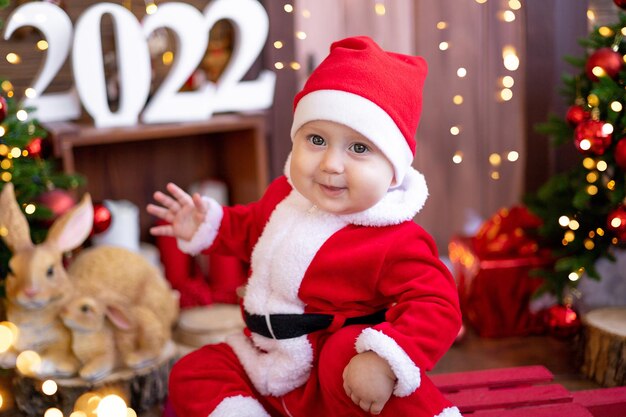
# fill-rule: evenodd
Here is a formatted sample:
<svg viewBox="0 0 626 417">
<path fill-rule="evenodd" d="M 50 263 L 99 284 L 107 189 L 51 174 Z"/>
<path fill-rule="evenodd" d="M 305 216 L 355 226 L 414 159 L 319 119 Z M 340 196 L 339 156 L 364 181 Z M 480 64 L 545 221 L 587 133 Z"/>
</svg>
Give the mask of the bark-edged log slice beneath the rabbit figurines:
<svg viewBox="0 0 626 417">
<path fill-rule="evenodd" d="M 58 408 L 64 416 L 73 411 L 83 411 L 86 416 L 95 417 L 94 401 L 88 401 L 92 394 L 100 398 L 115 394 L 124 399 L 130 408 L 141 413 L 165 400 L 169 373 L 178 357 L 178 349 L 170 341 L 157 362 L 138 370 L 120 369 L 95 382 L 78 377 L 55 378 L 58 389 L 52 395 L 42 391 L 45 379 L 16 371 L 13 378 L 15 404 L 27 417 L 42 417 L 49 408 Z"/>
</svg>

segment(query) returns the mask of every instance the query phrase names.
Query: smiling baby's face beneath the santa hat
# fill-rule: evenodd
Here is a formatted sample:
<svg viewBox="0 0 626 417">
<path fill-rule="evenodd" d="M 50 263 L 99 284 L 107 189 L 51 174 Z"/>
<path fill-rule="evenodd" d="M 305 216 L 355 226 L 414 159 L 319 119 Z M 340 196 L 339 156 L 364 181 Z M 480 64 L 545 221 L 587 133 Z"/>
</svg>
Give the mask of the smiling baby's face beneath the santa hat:
<svg viewBox="0 0 626 417">
<path fill-rule="evenodd" d="M 393 167 L 365 136 L 345 125 L 315 120 L 293 139 L 291 182 L 318 208 L 358 213 L 385 196 Z"/>
</svg>

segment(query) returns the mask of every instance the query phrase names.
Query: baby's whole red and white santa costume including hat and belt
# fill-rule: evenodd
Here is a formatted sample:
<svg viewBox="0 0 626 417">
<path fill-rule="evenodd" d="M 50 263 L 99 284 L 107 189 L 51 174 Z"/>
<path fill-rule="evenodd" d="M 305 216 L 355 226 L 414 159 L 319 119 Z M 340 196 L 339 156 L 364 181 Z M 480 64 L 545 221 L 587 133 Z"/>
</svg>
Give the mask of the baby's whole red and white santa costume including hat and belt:
<svg viewBox="0 0 626 417">
<path fill-rule="evenodd" d="M 292 137 L 308 121 L 330 120 L 389 159 L 397 185 L 373 207 L 318 209 L 293 188 L 289 164 L 255 203 L 207 200 L 205 222 L 179 246 L 250 262 L 248 329 L 174 366 L 170 399 L 180 417 L 370 415 L 346 395 L 342 378 L 365 351 L 387 360 L 397 378 L 382 416 L 461 415 L 425 375 L 461 321 L 453 278 L 413 222 L 428 193 L 411 168 L 425 75 L 421 58 L 350 38 L 333 44 L 296 96 Z M 303 319 L 313 329 L 321 321 L 320 329 L 300 326 Z"/>
</svg>

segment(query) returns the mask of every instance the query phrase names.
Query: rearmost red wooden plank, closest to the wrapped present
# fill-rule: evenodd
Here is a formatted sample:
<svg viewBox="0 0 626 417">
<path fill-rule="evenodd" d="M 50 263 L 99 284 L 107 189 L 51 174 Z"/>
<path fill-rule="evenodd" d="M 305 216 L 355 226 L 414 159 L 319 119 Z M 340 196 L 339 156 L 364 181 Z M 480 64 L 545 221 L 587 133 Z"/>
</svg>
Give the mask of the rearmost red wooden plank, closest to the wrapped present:
<svg viewBox="0 0 626 417">
<path fill-rule="evenodd" d="M 537 365 L 434 374 L 429 378 L 446 393 L 468 388 L 534 385 L 551 382 L 554 375 L 546 367 Z"/>
</svg>

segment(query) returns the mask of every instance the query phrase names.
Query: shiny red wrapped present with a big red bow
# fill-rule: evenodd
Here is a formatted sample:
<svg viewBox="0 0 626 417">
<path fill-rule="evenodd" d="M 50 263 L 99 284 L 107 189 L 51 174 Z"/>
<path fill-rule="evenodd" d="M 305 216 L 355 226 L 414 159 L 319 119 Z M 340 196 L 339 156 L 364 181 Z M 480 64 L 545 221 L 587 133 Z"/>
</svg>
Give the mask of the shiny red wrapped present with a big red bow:
<svg viewBox="0 0 626 417">
<path fill-rule="evenodd" d="M 540 222 L 523 207 L 502 209 L 474 237 L 455 236 L 449 256 L 466 321 L 480 336 L 541 333 L 543 315 L 529 309 L 541 278 L 530 271 L 548 266 L 531 231 Z"/>
</svg>

